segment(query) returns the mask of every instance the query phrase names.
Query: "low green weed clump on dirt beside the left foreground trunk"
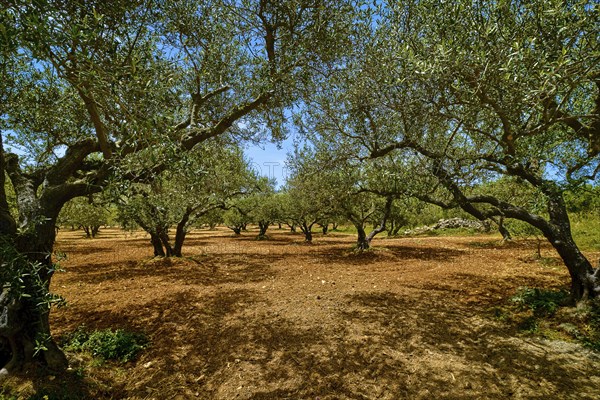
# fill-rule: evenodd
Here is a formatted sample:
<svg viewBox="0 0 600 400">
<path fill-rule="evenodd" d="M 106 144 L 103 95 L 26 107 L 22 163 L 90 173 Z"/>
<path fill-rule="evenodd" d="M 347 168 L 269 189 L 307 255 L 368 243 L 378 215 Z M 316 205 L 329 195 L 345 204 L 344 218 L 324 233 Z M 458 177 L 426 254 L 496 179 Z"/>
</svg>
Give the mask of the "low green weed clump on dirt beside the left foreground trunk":
<svg viewBox="0 0 600 400">
<path fill-rule="evenodd" d="M 123 329 L 88 331 L 80 326 L 65 341 L 65 349 L 88 351 L 101 360 L 116 360 L 122 363 L 135 360 L 138 353 L 148 346 L 145 335 Z"/>
</svg>

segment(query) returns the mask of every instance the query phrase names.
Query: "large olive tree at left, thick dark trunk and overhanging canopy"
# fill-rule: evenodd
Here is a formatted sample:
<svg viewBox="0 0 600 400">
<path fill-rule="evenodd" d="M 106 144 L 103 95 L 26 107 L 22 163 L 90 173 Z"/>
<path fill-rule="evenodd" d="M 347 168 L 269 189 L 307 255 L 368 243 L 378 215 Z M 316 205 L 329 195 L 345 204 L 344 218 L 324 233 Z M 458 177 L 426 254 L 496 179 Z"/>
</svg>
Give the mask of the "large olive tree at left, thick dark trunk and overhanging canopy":
<svg viewBox="0 0 600 400">
<path fill-rule="evenodd" d="M 114 173 L 151 181 L 169 155 L 226 132 L 281 136 L 282 110 L 309 80 L 303 66 L 339 48 L 332 43 L 349 9 L 329 3 L 18 0 L 2 8 L 0 169 L 19 216 L 7 211 L 0 173 L 0 233 L 21 255 L 12 270 L 27 277 L 24 293 L 5 281 L 0 296 L 4 309 L 18 308 L 0 330 L 13 356 L 3 374 L 35 349 L 50 369 L 67 365 L 40 301 L 62 206 L 100 192 Z M 157 151 L 165 146 L 172 151 Z"/>
</svg>

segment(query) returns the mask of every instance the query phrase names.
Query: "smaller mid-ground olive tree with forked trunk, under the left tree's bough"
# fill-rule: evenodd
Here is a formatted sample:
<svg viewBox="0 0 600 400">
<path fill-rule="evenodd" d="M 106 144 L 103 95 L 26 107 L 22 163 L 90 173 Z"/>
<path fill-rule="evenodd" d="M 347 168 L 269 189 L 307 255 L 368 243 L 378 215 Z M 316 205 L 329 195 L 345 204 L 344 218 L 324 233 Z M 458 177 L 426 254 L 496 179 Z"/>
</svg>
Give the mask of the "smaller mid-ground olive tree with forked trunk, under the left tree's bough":
<svg viewBox="0 0 600 400">
<path fill-rule="evenodd" d="M 155 256 L 181 257 L 190 227 L 251 191 L 255 180 L 241 150 L 231 144 L 207 141 L 179 158 L 150 183 L 116 185 L 122 218 L 150 235 Z"/>
</svg>

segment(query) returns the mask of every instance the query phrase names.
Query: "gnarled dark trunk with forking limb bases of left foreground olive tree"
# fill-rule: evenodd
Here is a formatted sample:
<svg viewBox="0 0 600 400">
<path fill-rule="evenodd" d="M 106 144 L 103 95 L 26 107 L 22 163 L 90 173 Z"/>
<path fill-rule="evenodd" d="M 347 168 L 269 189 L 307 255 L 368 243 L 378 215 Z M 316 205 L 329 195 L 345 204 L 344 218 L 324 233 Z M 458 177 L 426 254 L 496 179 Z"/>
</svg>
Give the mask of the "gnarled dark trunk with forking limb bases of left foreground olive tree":
<svg viewBox="0 0 600 400">
<path fill-rule="evenodd" d="M 49 324 L 50 283 L 54 273 L 52 253 L 56 219 L 70 199 L 99 188 L 91 181 L 71 180 L 74 171 L 97 149 L 97 142 L 83 139 L 71 145 L 63 158 L 34 173 L 23 171 L 15 154 L 4 152 L 0 135 L 0 239 L 1 271 L 0 336 L 11 348 L 11 360 L 0 370 L 8 375 L 24 363 L 36 360 L 51 370 L 67 367 L 64 353 L 52 338 Z M 16 194 L 18 224 L 9 212 L 5 172 Z M 99 179 L 105 170 L 99 169 Z"/>
</svg>

